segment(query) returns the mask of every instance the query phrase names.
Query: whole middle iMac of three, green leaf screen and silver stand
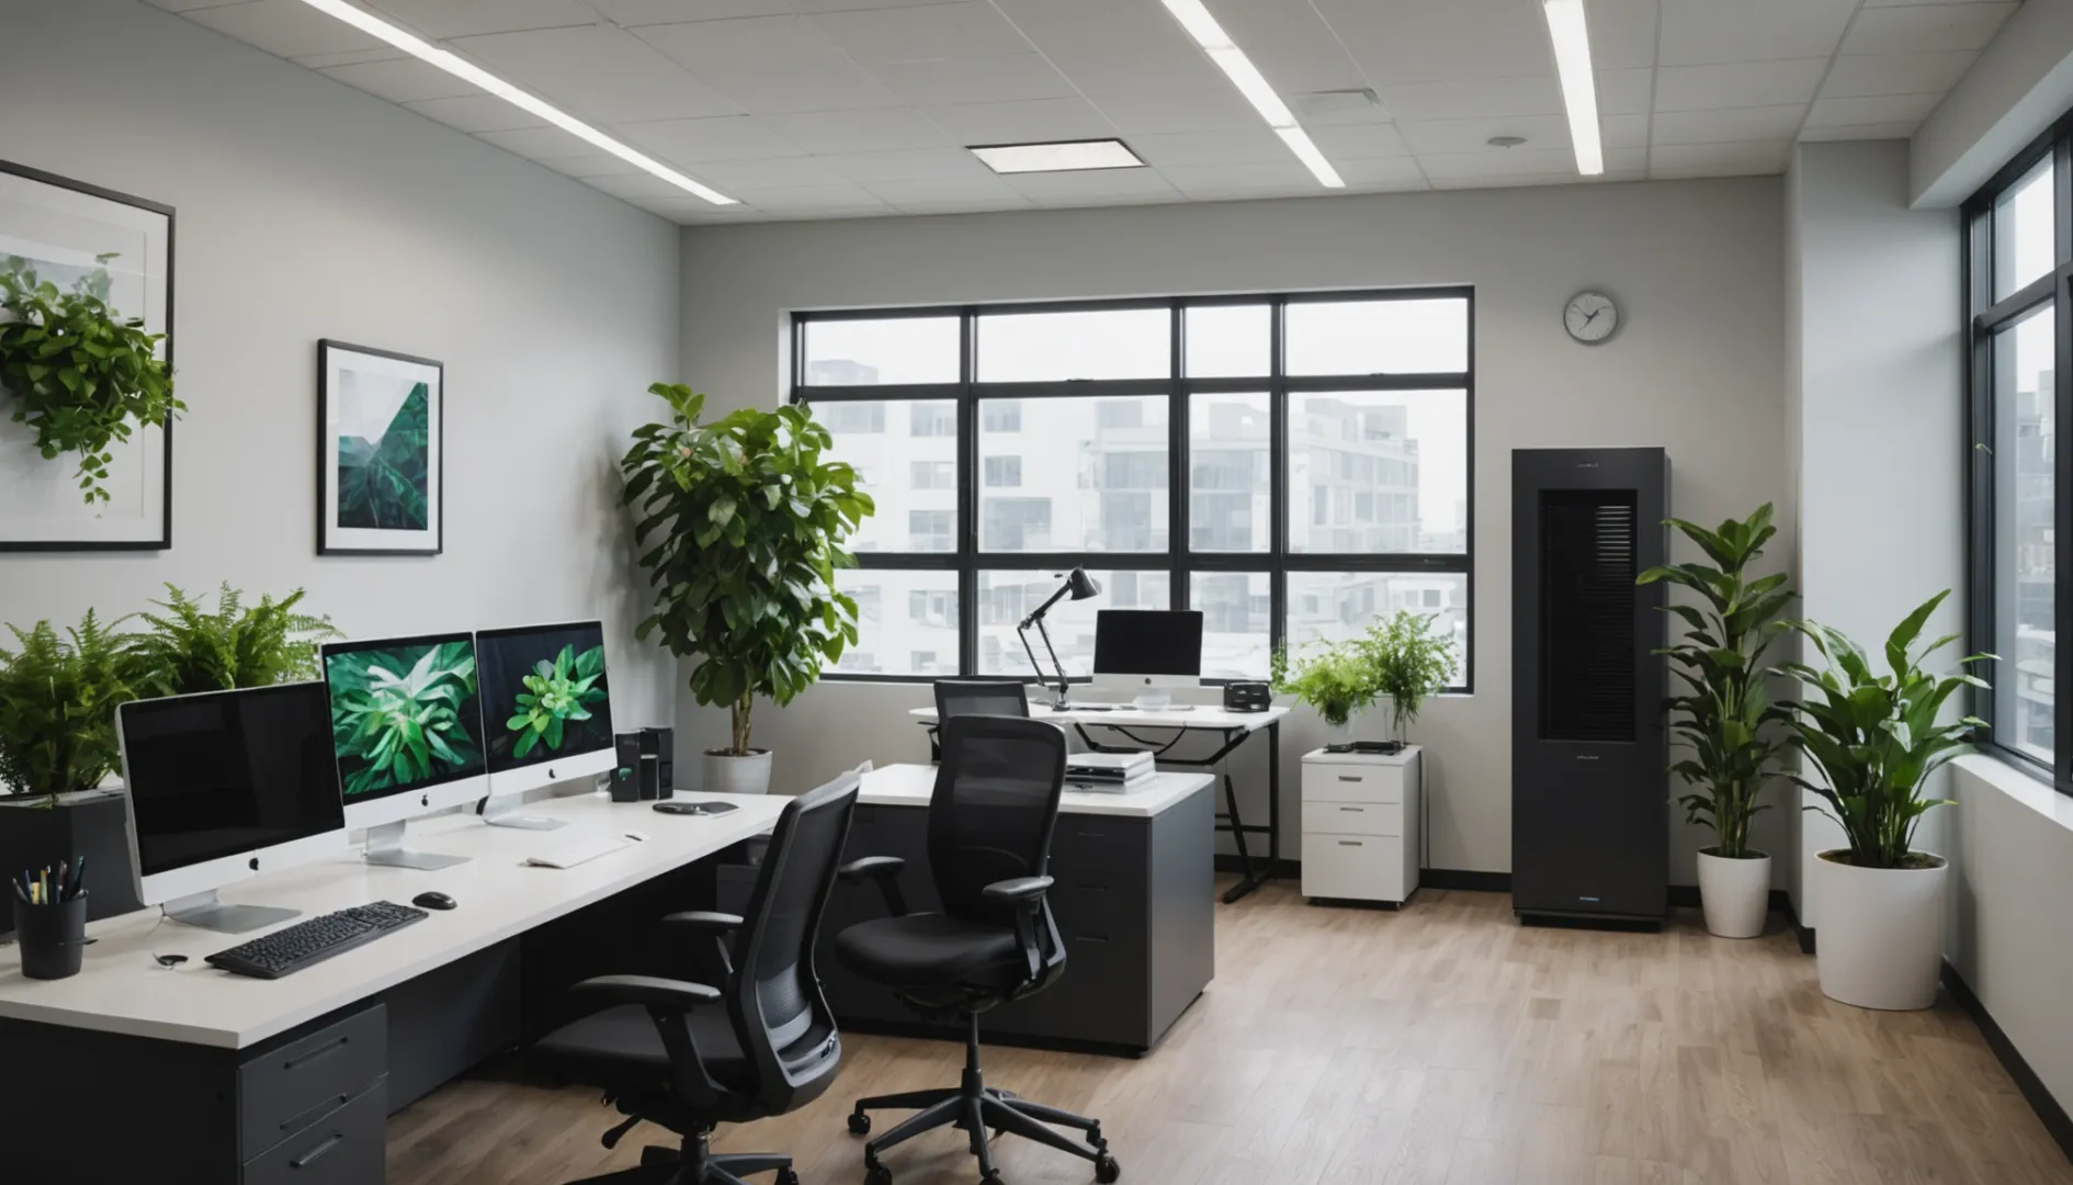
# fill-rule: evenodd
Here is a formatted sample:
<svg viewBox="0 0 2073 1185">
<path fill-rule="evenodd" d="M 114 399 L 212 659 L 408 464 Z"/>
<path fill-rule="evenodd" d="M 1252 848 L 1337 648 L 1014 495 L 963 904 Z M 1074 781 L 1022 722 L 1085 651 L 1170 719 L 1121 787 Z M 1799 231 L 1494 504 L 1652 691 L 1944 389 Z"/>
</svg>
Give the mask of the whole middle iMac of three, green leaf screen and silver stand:
<svg viewBox="0 0 2073 1185">
<path fill-rule="evenodd" d="M 475 635 L 332 641 L 323 645 L 323 683 L 346 826 L 367 828 L 367 863 L 466 863 L 464 855 L 406 849 L 404 824 L 489 793 Z"/>
</svg>

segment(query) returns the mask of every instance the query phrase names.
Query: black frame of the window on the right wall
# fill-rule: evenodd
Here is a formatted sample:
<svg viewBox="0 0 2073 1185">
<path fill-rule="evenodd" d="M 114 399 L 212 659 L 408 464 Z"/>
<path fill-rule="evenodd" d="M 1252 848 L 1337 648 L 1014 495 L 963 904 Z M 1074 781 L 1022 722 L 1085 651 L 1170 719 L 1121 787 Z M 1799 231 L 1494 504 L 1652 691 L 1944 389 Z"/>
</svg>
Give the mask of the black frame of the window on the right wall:
<svg viewBox="0 0 2073 1185">
<path fill-rule="evenodd" d="M 2015 191 L 2044 160 L 2052 162 L 2052 268 L 2003 299 L 1994 299 L 1996 228 L 1994 205 Z M 1965 291 L 1965 637 L 1971 654 L 1992 654 L 1998 637 L 1996 521 L 1994 521 L 1994 334 L 2044 305 L 2052 305 L 2052 421 L 2063 432 L 2073 415 L 2073 112 L 2019 151 L 1963 210 Z M 2058 697 L 2056 685 L 2073 674 L 2073 660 L 2056 650 L 2073 608 L 2067 604 L 2067 575 L 2073 571 L 2073 463 L 2065 448 L 2052 457 L 2052 764 L 2000 743 L 1994 735 L 1994 691 L 1971 689 L 1971 714 L 1986 720 L 1984 749 L 2019 770 L 2048 780 L 2061 795 L 2073 795 L 2073 697 Z M 2013 662 L 2013 656 L 2009 656 Z M 1982 672 L 1988 683 L 2009 674 L 1996 664 Z"/>
</svg>

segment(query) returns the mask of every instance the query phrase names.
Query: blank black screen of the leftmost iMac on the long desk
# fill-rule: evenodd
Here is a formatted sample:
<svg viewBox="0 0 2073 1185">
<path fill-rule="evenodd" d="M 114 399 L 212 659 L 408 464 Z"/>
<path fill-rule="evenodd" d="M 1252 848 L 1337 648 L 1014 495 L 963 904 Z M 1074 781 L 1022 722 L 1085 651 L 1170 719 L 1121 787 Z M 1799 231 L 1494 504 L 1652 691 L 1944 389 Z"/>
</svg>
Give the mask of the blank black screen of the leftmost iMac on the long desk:
<svg viewBox="0 0 2073 1185">
<path fill-rule="evenodd" d="M 321 683 L 139 699 L 116 718 L 145 876 L 346 826 Z"/>
</svg>

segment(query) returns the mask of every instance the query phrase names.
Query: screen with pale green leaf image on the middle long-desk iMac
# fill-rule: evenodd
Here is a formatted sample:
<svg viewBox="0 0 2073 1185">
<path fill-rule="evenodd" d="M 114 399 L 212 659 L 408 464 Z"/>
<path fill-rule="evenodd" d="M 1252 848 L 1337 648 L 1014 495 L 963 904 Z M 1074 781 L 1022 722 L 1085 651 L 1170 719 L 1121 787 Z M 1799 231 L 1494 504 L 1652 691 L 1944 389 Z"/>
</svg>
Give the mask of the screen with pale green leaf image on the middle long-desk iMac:
<svg viewBox="0 0 2073 1185">
<path fill-rule="evenodd" d="M 332 747 L 346 797 L 406 787 L 481 760 L 466 641 L 334 658 Z"/>
</svg>

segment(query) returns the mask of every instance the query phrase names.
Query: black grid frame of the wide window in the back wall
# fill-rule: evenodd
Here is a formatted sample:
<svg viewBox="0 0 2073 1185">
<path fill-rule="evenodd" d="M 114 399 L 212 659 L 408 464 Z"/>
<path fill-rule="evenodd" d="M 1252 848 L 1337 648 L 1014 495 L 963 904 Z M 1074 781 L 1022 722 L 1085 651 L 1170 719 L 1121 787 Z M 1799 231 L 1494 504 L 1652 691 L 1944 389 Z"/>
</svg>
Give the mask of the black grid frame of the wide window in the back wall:
<svg viewBox="0 0 2073 1185">
<path fill-rule="evenodd" d="M 1287 309 L 1302 303 L 1337 301 L 1468 301 L 1468 369 L 1466 371 L 1416 371 L 1416 374 L 1343 374 L 1343 376 L 1289 376 L 1287 374 Z M 1190 378 L 1188 359 L 1188 315 L 1192 307 L 1217 305 L 1269 305 L 1269 367 L 1265 376 L 1244 378 Z M 1132 380 L 1066 380 L 1066 382 L 981 382 L 978 380 L 978 322 L 999 313 L 1072 313 L 1111 309 L 1167 309 L 1169 374 L 1167 378 Z M 806 382 L 806 326 L 835 320 L 906 320 L 906 318 L 960 318 L 958 332 L 958 376 L 960 382 L 943 384 L 808 384 Z M 1466 457 L 1466 500 L 1464 544 L 1459 552 L 1291 552 L 1289 550 L 1289 396 L 1310 392 L 1389 392 L 1389 390 L 1459 390 L 1464 392 L 1464 457 Z M 1468 625 L 1468 643 L 1461 654 L 1461 677 L 1447 689 L 1453 695 L 1474 693 L 1476 670 L 1476 291 L 1470 284 L 1439 284 L 1414 288 L 1358 288 L 1358 291 L 1306 291 L 1306 293 L 1236 293 L 1215 297 L 1142 297 L 1142 299 L 1097 299 L 1097 301 L 1014 301 L 987 305 L 925 305 L 885 309 L 817 309 L 794 311 L 790 315 L 790 374 L 788 398 L 792 403 L 848 403 L 848 401 L 956 401 L 958 409 L 958 546 L 952 552 L 856 552 L 858 569 L 881 571 L 956 571 L 958 573 L 958 670 L 976 674 L 981 664 L 978 631 L 978 573 L 981 571 L 1057 571 L 1074 567 L 1119 569 L 1119 571 L 1163 571 L 1169 581 L 1169 606 L 1188 608 L 1192 577 L 1196 573 L 1262 573 L 1269 577 L 1269 650 L 1279 650 L 1287 641 L 1287 579 L 1289 573 L 1387 573 L 1387 575 L 1459 575 L 1464 577 L 1461 614 Z M 1188 413 L 1196 394 L 1260 394 L 1269 396 L 1269 546 L 1252 552 L 1196 552 L 1190 548 L 1190 436 Z M 1163 552 L 983 552 L 978 548 L 978 498 L 985 479 L 978 459 L 981 401 L 1018 398 L 1026 413 L 1030 403 L 1043 398 L 1076 396 L 1165 396 L 1167 403 L 1167 548 Z M 887 421 L 891 413 L 887 415 Z M 931 683 L 927 674 L 848 674 L 825 670 L 823 679 L 850 683 Z M 1086 677 L 1074 677 L 1086 683 Z M 1223 685 L 1229 679 L 1204 679 L 1204 685 Z"/>
</svg>

